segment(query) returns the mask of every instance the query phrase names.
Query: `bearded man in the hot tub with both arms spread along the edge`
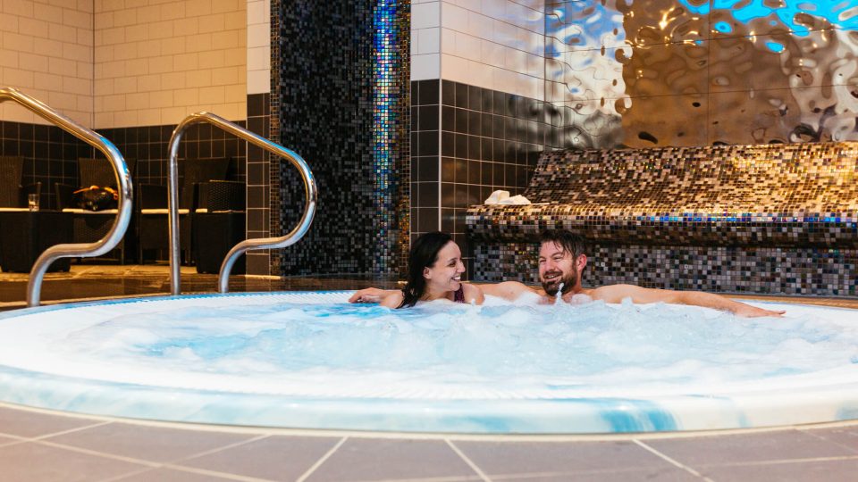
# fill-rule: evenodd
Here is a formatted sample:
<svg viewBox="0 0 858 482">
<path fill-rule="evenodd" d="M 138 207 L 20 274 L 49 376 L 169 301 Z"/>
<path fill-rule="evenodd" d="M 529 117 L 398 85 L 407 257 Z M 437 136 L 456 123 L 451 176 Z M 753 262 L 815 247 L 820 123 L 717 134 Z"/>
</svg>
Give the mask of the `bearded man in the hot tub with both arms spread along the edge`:
<svg viewBox="0 0 858 482">
<path fill-rule="evenodd" d="M 540 238 L 539 280 L 542 289 L 528 287 L 517 281 L 477 285 L 485 295 L 515 301 L 521 296 L 533 297 L 543 303 L 552 303 L 561 294 L 567 303 L 586 303 L 601 300 L 620 303 L 631 298 L 633 303 L 677 303 L 714 308 L 733 312 L 738 316 L 780 316 L 782 311 L 764 310 L 750 304 L 733 301 L 721 295 L 700 291 L 672 291 L 637 287 L 635 285 L 609 285 L 597 288 L 581 287 L 581 277 L 587 266 L 585 239 L 565 229 L 545 231 Z M 366 288 L 349 298 L 349 303 L 379 303 L 398 290 Z"/>
</svg>

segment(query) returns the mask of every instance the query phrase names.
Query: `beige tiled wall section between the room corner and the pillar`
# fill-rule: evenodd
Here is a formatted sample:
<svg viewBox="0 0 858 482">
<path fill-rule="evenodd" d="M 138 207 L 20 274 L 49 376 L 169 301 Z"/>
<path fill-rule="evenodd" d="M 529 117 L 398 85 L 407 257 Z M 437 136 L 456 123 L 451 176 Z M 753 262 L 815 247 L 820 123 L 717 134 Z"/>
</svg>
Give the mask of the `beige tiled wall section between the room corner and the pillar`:
<svg viewBox="0 0 858 482">
<path fill-rule="evenodd" d="M 96 0 L 96 128 L 246 119 L 247 3 Z"/>
</svg>

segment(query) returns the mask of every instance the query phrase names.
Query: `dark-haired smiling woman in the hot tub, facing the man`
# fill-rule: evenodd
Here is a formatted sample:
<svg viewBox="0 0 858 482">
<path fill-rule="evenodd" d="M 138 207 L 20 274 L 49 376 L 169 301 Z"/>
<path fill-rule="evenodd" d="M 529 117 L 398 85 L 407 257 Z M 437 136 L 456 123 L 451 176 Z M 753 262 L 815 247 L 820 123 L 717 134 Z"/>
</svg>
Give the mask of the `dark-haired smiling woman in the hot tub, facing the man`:
<svg viewBox="0 0 858 482">
<path fill-rule="evenodd" d="M 408 282 L 402 291 L 384 298 L 382 306 L 409 308 L 417 302 L 446 299 L 454 303 L 483 304 L 483 290 L 462 283 L 462 252 L 447 233 L 418 237 L 408 256 Z"/>
</svg>

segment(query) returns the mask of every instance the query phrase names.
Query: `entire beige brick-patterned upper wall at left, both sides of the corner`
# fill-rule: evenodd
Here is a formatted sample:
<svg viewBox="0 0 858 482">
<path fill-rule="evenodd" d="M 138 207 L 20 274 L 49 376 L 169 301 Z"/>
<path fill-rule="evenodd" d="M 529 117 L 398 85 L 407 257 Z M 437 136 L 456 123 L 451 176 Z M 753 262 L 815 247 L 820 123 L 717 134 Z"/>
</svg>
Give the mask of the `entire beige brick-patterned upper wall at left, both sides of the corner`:
<svg viewBox="0 0 858 482">
<path fill-rule="evenodd" d="M 248 71 L 248 4 L 264 27 L 263 0 L 6 1 L 0 78 L 96 129 L 175 123 L 203 108 L 243 120 L 248 77 L 267 91 L 270 70 L 263 47 Z M 0 120 L 46 123 L 0 107 Z"/>
</svg>

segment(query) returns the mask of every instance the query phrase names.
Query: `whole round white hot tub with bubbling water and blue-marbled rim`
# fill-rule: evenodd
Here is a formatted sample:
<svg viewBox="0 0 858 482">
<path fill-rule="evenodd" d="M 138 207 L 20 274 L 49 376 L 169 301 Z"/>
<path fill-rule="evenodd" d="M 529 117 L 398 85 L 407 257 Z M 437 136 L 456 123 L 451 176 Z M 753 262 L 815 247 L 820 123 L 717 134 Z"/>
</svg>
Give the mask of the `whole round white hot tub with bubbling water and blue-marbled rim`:
<svg viewBox="0 0 858 482">
<path fill-rule="evenodd" d="M 391 311 L 351 292 L 185 295 L 0 313 L 0 400 L 211 424 L 459 433 L 858 418 L 858 312 L 632 303 Z"/>
</svg>

